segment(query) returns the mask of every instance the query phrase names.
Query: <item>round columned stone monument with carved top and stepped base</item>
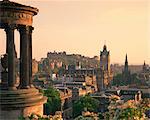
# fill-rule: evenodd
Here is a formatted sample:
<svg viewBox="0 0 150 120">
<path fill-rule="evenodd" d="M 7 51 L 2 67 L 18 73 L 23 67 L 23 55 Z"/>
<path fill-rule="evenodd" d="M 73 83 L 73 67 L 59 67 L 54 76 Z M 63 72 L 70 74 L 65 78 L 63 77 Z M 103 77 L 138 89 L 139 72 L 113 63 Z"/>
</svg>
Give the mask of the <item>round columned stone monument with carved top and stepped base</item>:
<svg viewBox="0 0 150 120">
<path fill-rule="evenodd" d="M 0 28 L 6 32 L 6 54 L 1 57 L 0 120 L 43 115 L 47 101 L 32 84 L 32 22 L 38 9 L 9 0 L 0 1 Z M 20 33 L 20 82 L 16 86 L 14 30 Z"/>
</svg>

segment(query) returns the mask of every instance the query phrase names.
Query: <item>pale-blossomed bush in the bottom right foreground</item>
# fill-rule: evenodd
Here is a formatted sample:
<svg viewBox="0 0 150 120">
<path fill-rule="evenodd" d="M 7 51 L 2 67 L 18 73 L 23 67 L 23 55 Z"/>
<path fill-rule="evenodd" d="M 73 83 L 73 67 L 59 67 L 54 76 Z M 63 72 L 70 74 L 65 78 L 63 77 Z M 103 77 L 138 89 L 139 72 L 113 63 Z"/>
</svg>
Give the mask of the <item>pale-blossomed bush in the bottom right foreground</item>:
<svg viewBox="0 0 150 120">
<path fill-rule="evenodd" d="M 146 112 L 150 110 L 149 99 L 135 103 L 129 100 L 122 104 L 110 104 L 109 111 L 105 113 L 106 120 L 148 120 Z"/>
</svg>

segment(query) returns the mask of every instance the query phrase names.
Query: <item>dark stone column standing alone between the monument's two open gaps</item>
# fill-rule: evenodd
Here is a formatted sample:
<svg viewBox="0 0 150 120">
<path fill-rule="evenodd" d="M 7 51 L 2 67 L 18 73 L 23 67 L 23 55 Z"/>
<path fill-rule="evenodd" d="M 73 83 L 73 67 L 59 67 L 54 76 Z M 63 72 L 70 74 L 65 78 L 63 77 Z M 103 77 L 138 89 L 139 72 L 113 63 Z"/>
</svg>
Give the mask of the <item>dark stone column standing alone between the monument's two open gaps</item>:
<svg viewBox="0 0 150 120">
<path fill-rule="evenodd" d="M 8 88 L 16 89 L 15 87 L 15 44 L 14 44 L 14 25 L 8 25 L 5 28 L 6 31 L 6 39 L 7 39 L 7 54 L 8 54 Z"/>
</svg>

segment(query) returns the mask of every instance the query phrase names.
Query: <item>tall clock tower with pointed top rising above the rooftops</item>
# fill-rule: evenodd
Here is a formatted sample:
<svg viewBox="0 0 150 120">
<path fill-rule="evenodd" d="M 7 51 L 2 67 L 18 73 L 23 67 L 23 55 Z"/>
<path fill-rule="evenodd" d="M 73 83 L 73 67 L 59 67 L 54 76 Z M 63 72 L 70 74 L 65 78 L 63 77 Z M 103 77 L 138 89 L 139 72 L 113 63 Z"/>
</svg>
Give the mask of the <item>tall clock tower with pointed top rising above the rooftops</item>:
<svg viewBox="0 0 150 120">
<path fill-rule="evenodd" d="M 98 91 L 108 89 L 111 86 L 113 73 L 110 67 L 110 52 L 104 45 L 103 51 L 100 51 L 100 68 L 97 70 Z"/>
</svg>

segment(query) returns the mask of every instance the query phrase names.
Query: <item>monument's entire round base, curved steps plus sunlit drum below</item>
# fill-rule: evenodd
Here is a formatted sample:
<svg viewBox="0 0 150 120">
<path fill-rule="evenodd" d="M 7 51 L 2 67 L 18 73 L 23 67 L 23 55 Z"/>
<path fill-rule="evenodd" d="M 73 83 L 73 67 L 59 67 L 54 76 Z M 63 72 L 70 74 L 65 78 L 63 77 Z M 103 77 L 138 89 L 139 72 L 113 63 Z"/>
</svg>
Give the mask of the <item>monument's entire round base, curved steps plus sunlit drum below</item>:
<svg viewBox="0 0 150 120">
<path fill-rule="evenodd" d="M 35 88 L 16 91 L 0 91 L 0 120 L 17 120 L 19 116 L 30 116 L 32 113 L 43 115 L 43 104 L 47 98 Z"/>
</svg>

